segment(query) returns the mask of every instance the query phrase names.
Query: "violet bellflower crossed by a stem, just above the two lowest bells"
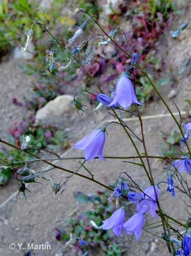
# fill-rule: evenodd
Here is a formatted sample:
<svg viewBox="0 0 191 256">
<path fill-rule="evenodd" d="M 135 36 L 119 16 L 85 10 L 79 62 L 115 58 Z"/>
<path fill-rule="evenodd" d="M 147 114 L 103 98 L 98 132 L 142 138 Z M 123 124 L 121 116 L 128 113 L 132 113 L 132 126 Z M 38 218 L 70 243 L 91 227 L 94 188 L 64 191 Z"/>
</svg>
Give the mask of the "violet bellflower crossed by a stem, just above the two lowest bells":
<svg viewBox="0 0 191 256">
<path fill-rule="evenodd" d="M 157 194 L 157 198 L 159 197 L 159 189 L 158 186 L 155 185 L 155 190 Z M 153 186 L 150 186 L 144 190 L 144 193 L 141 193 L 142 198 L 144 200 L 137 203 L 137 212 L 140 214 L 145 214 L 150 211 L 152 217 L 157 218 L 156 209 L 157 209 L 157 199 L 155 196 L 155 190 Z"/>
</svg>

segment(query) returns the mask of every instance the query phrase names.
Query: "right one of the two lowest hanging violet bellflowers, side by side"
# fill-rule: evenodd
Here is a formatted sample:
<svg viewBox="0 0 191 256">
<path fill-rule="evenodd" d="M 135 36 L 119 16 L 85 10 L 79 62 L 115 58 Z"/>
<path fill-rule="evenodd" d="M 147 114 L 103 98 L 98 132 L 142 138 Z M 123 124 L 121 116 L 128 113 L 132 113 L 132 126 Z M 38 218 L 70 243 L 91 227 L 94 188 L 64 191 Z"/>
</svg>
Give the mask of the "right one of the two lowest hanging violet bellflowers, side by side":
<svg viewBox="0 0 191 256">
<path fill-rule="evenodd" d="M 137 241 L 139 240 L 139 237 L 141 235 L 144 220 L 144 214 L 137 213 L 124 223 L 124 228 L 126 232 L 128 234 L 134 233 Z"/>
</svg>

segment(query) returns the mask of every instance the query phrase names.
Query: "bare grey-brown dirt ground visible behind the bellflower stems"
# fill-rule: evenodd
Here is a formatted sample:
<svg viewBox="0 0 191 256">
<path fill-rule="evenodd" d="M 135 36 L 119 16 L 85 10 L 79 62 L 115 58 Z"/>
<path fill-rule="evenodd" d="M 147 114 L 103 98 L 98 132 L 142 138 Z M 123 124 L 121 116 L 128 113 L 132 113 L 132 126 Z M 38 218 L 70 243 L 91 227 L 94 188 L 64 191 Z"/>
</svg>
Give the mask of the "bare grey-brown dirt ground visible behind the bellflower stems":
<svg viewBox="0 0 191 256">
<path fill-rule="evenodd" d="M 186 6 L 178 19 L 174 19 L 172 27 L 160 39 L 158 44 L 157 54 L 166 56 L 165 58 L 165 74 L 169 74 L 172 67 L 176 73 L 179 70 L 180 64 L 191 55 L 190 53 L 190 27 L 184 31 L 178 39 L 173 39 L 170 31 L 177 25 L 186 22 L 189 19 L 190 7 Z M 1 137 L 5 136 L 8 127 L 14 123 L 18 118 L 21 118 L 22 113 L 20 109 L 12 104 L 12 98 L 15 96 L 21 97 L 21 94 L 27 93 L 29 90 L 31 80 L 28 76 L 23 74 L 17 67 L 19 61 L 13 60 L 11 57 L 6 62 L 1 63 L 0 72 L 0 88 L 1 88 L 1 101 L 0 101 L 0 117 L 1 117 Z M 168 99 L 168 95 L 172 89 L 176 91 L 174 101 L 183 110 L 185 106 L 184 99 L 190 99 L 190 72 L 179 75 L 175 74 L 177 82 L 168 84 L 161 89 L 164 98 L 171 105 L 174 112 L 177 112 L 172 100 Z M 87 116 L 82 120 L 74 123 L 73 142 L 82 138 L 92 127 L 100 125 L 105 122 L 105 113 L 101 111 L 99 116 Z M 144 110 L 144 116 L 157 115 L 167 113 L 163 104 L 156 100 L 148 105 Z M 107 116 L 110 119 L 110 116 Z M 133 131 L 140 135 L 140 127 L 138 121 L 131 121 L 128 123 Z M 146 134 L 146 143 L 148 146 L 149 154 L 159 153 L 159 142 L 161 141 L 160 131 L 171 132 L 176 129 L 175 123 L 170 117 L 155 118 L 144 121 L 144 128 Z M 125 143 L 124 143 L 125 141 Z M 139 145 L 139 143 L 137 143 Z M 190 141 L 189 144 L 191 145 Z M 139 145 L 141 148 L 141 145 Z M 142 152 L 142 150 L 140 150 Z M 121 133 L 121 127 L 117 125 L 110 125 L 108 127 L 108 136 L 105 145 L 105 156 L 131 156 L 134 155 L 134 148 L 130 141 L 127 140 L 125 134 Z M 66 157 L 82 156 L 82 152 L 77 150 L 69 150 L 65 153 Z M 75 170 L 78 167 L 78 161 L 65 160 L 60 161 L 61 166 Z M 88 168 L 94 174 L 97 180 L 105 181 L 107 177 L 108 182 L 116 181 L 120 172 L 128 172 L 137 183 L 141 182 L 142 185 L 147 186 L 147 179 L 142 170 L 128 163 L 121 161 L 106 160 L 99 161 L 93 160 L 88 163 Z M 165 170 L 167 166 L 159 162 L 152 161 L 152 170 L 156 182 L 165 179 Z M 84 173 L 84 171 L 81 171 Z M 84 173 L 85 174 L 85 173 Z M 66 177 L 65 173 L 55 170 L 50 174 L 56 181 L 59 181 L 62 176 Z M 84 210 L 85 205 L 80 204 L 74 200 L 74 191 L 84 191 L 86 193 L 94 193 L 97 191 L 98 186 L 94 183 L 89 183 L 86 180 L 74 177 L 66 186 L 63 195 L 54 195 L 51 191 L 50 184 L 44 182 L 44 185 L 32 184 L 29 189 L 32 193 L 28 194 L 27 201 L 5 200 L 12 195 L 16 190 L 17 184 L 11 182 L 8 187 L 0 188 L 0 234 L 1 234 L 1 248 L 0 255 L 24 255 L 17 249 L 11 251 L 9 249 L 10 243 L 49 243 L 52 246 L 51 251 L 35 251 L 34 255 L 75 255 L 73 248 L 64 247 L 62 244 L 55 240 L 55 227 L 65 227 L 65 222 L 68 217 L 76 215 L 81 210 Z M 164 194 L 161 193 L 160 201 L 164 209 L 169 215 L 175 218 L 187 218 L 188 214 L 184 210 L 184 203 L 182 195 L 176 196 L 175 199 L 170 194 L 165 193 L 165 186 L 163 188 Z M 101 187 L 99 187 L 101 189 Z M 127 216 L 134 214 L 134 208 L 130 207 Z M 149 219 L 149 221 L 155 221 Z M 154 230 L 157 234 L 159 230 Z M 125 255 L 168 255 L 165 243 L 158 238 L 150 236 L 150 234 L 143 232 L 139 243 L 135 241 L 133 236 L 125 236 L 121 238 L 121 243 L 125 248 Z M 102 254 L 101 254 L 102 255 Z"/>
</svg>

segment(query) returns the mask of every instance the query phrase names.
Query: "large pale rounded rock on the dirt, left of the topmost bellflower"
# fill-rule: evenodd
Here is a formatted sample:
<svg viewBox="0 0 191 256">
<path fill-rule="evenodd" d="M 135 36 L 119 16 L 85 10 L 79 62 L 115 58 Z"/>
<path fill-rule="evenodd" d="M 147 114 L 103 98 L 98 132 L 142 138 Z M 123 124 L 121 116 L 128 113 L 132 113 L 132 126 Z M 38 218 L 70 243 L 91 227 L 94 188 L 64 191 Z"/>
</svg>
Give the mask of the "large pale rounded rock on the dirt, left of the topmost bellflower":
<svg viewBox="0 0 191 256">
<path fill-rule="evenodd" d="M 64 113 L 67 113 L 71 109 L 75 109 L 74 104 L 70 104 L 74 100 L 72 95 L 60 95 L 57 96 L 54 100 L 49 101 L 39 109 L 36 113 L 36 121 L 39 120 L 45 121 L 51 117 L 62 116 Z"/>
</svg>

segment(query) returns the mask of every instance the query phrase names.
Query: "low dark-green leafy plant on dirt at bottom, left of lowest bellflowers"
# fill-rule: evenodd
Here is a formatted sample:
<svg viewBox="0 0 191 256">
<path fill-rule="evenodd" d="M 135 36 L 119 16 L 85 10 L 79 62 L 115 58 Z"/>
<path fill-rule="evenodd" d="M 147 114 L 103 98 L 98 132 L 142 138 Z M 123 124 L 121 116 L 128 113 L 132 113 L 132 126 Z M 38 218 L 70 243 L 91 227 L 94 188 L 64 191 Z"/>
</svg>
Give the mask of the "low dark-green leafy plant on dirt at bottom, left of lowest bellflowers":
<svg viewBox="0 0 191 256">
<path fill-rule="evenodd" d="M 57 229 L 56 239 L 66 245 L 73 245 L 77 255 L 88 255 L 90 252 L 104 255 L 123 254 L 123 249 L 115 243 L 111 230 L 102 229 L 103 218 L 109 218 L 115 208 L 109 203 L 108 191 L 98 191 L 97 195 L 87 196 L 81 192 L 74 194 L 75 199 L 84 204 L 92 204 L 91 210 L 79 214 L 77 219 L 68 220 L 69 232 Z"/>
</svg>

